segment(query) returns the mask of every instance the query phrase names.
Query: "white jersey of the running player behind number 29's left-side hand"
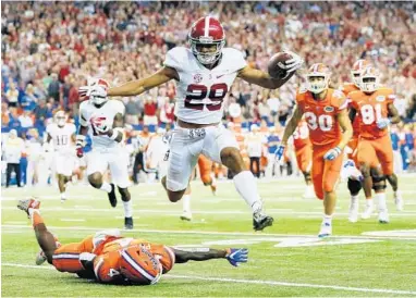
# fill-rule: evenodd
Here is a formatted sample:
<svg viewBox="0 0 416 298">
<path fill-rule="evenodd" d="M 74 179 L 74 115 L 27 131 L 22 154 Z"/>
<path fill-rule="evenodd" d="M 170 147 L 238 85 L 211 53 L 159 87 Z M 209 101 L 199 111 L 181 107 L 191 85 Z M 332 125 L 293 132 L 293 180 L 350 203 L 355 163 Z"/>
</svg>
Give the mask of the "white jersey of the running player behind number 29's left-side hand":
<svg viewBox="0 0 416 298">
<path fill-rule="evenodd" d="M 108 136 L 98 135 L 93 125 L 94 119 L 100 119 L 102 123 L 112 127 L 114 116 L 124 115 L 124 104 L 120 100 L 109 100 L 102 107 L 97 108 L 90 101 L 83 101 L 79 105 L 79 123 L 88 126 L 88 134 L 93 140 L 93 148 L 103 149 L 118 147 L 120 144 Z"/>
</svg>

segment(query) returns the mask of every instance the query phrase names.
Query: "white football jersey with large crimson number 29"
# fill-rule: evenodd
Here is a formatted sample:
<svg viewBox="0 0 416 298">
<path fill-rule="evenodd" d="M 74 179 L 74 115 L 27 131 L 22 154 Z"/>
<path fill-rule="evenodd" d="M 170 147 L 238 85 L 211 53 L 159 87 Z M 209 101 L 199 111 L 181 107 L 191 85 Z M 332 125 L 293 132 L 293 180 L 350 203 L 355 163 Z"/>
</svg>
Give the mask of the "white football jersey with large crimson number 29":
<svg viewBox="0 0 416 298">
<path fill-rule="evenodd" d="M 210 124 L 221 121 L 223 99 L 230 90 L 237 72 L 247 63 L 243 53 L 233 48 L 222 49 L 219 64 L 208 70 L 192 51 L 176 47 L 167 53 L 164 65 L 175 69 L 176 82 L 175 115 L 195 124 Z"/>
</svg>

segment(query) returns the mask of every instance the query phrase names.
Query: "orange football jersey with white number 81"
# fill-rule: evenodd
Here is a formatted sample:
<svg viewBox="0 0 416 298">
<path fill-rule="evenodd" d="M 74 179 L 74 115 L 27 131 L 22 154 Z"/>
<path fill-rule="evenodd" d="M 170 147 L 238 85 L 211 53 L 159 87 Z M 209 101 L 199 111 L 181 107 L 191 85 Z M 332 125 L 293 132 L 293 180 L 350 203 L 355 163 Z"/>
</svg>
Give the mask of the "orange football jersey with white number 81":
<svg viewBox="0 0 416 298">
<path fill-rule="evenodd" d="M 386 136 L 388 129 L 377 127 L 377 121 L 389 115 L 388 105 L 393 103 L 395 95 L 391 88 L 380 88 L 372 94 L 354 91 L 348 94 L 351 107 L 357 111 L 360 119 L 359 136 L 376 139 Z"/>
</svg>

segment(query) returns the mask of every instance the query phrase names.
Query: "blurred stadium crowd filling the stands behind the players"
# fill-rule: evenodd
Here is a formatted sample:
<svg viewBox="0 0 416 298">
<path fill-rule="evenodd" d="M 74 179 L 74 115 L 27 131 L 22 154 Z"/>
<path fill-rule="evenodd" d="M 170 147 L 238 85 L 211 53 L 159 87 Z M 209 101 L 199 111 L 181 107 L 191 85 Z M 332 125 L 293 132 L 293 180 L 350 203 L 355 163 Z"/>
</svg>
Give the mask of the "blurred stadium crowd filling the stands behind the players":
<svg viewBox="0 0 416 298">
<path fill-rule="evenodd" d="M 306 65 L 329 65 L 337 87 L 350 80 L 356 59 L 371 61 L 381 70 L 382 83 L 399 96 L 403 125 L 392 133 L 397 134 L 396 150 L 406 169 L 416 160 L 415 7 L 384 1 L 3 2 L 2 133 L 16 129 L 23 138 L 27 132 L 39 138 L 58 109 L 77 124 L 77 88 L 88 77 L 119 85 L 151 74 L 169 49 L 186 44 L 193 21 L 210 13 L 225 25 L 228 46 L 245 52 L 255 67 L 265 70 L 274 52 L 291 49 Z M 302 82 L 301 74 L 269 91 L 237 80 L 225 117 L 241 113 L 247 131 L 261 120 L 279 129 Z M 169 83 L 123 99 L 126 123 L 134 129 L 172 124 L 174 95 L 174 84 Z"/>
</svg>

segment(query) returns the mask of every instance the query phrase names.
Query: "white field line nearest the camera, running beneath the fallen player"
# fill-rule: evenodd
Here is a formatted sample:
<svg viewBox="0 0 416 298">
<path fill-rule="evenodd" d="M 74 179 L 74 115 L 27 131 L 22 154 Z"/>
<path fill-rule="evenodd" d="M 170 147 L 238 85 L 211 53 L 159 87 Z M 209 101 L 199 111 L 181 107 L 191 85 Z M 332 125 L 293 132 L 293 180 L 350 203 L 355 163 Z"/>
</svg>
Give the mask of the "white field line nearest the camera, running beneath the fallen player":
<svg viewBox="0 0 416 298">
<path fill-rule="evenodd" d="M 25 264 L 16 264 L 16 263 L 2 263 L 2 265 L 15 266 L 15 268 L 26 268 L 26 269 L 53 270 L 54 271 L 54 269 L 52 266 L 37 266 L 37 265 L 25 265 Z M 203 277 L 203 276 L 195 276 L 195 275 L 176 275 L 176 274 L 168 274 L 168 275 L 163 275 L 163 277 L 164 278 L 207 281 L 207 282 L 220 282 L 220 283 L 255 284 L 255 285 L 267 285 L 267 286 L 328 288 L 328 289 L 346 290 L 346 291 L 416 295 L 416 291 L 414 291 L 414 290 L 388 289 L 388 288 L 362 288 L 362 287 L 348 287 L 348 286 L 337 286 L 337 285 L 332 286 L 332 285 L 318 285 L 318 284 L 304 284 L 304 283 L 286 283 L 286 282 L 278 282 L 278 281 Z"/>
</svg>

